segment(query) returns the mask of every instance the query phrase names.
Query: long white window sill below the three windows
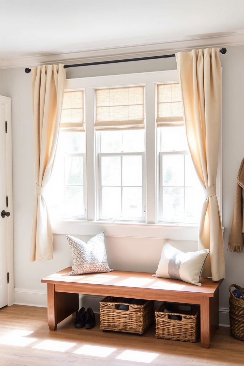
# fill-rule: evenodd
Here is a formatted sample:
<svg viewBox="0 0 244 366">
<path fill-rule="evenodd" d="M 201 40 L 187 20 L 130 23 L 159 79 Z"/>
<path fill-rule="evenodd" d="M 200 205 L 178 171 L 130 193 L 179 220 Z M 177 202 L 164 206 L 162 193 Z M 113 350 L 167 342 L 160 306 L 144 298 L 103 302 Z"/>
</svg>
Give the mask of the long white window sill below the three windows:
<svg viewBox="0 0 244 366">
<path fill-rule="evenodd" d="M 105 231 L 106 236 L 130 238 L 198 240 L 198 225 L 118 223 L 110 221 L 60 220 L 52 224 L 53 234 L 94 236 Z"/>
</svg>

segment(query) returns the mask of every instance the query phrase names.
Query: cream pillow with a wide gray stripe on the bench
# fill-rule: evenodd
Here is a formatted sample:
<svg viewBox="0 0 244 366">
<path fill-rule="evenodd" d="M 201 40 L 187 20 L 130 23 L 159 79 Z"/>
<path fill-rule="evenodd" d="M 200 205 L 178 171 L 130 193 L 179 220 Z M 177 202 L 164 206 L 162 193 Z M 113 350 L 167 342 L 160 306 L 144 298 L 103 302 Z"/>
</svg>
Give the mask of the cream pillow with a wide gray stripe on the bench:
<svg viewBox="0 0 244 366">
<path fill-rule="evenodd" d="M 200 277 L 208 254 L 209 249 L 184 253 L 164 241 L 158 269 L 153 276 L 202 286 Z"/>
</svg>

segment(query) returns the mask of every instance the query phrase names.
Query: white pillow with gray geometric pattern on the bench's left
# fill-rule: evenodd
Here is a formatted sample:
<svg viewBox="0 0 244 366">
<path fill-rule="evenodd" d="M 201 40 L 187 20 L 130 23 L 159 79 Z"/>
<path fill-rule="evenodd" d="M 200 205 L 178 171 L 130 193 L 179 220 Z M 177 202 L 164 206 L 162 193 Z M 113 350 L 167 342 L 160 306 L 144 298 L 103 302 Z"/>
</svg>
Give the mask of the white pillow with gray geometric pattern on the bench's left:
<svg viewBox="0 0 244 366">
<path fill-rule="evenodd" d="M 73 266 L 69 275 L 111 272 L 113 270 L 108 266 L 104 231 L 88 240 L 87 243 L 70 235 L 66 235 L 66 238 L 73 255 Z"/>
</svg>

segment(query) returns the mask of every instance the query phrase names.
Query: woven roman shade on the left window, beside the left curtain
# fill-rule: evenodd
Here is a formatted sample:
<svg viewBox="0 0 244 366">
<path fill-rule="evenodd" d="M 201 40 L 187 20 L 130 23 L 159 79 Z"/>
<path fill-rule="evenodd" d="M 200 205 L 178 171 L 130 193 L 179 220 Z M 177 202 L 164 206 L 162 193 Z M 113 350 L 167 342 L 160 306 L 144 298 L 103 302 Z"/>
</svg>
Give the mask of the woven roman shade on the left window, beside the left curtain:
<svg viewBox="0 0 244 366">
<path fill-rule="evenodd" d="M 60 121 L 60 131 L 83 132 L 84 91 L 65 91 Z"/>
</svg>

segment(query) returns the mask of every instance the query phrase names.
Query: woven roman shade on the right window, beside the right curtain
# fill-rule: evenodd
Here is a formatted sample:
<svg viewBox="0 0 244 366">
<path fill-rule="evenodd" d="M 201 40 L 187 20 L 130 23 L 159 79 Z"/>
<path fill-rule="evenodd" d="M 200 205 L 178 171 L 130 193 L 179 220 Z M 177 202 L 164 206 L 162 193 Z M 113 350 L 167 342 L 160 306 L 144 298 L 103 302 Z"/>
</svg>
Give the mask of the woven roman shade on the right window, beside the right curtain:
<svg viewBox="0 0 244 366">
<path fill-rule="evenodd" d="M 157 127 L 184 126 L 180 84 L 157 85 Z"/>
</svg>

